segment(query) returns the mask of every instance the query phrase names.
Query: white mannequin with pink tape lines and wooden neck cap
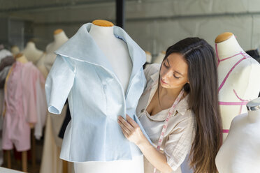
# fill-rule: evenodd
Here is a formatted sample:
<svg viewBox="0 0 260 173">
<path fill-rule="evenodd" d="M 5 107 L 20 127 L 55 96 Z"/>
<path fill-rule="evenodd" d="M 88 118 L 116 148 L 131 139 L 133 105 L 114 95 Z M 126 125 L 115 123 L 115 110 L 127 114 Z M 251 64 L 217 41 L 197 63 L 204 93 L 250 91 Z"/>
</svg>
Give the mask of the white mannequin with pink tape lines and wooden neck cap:
<svg viewBox="0 0 260 173">
<path fill-rule="evenodd" d="M 219 57 L 219 66 L 218 66 L 218 76 L 219 76 L 219 86 L 221 86 L 224 78 L 229 73 L 231 68 L 243 58 L 242 54 L 239 54 L 235 57 L 231 57 L 234 54 L 239 52 L 245 53 L 245 51 L 238 44 L 233 33 L 222 33 L 217 36 L 216 40 L 216 51 Z M 257 98 L 260 90 L 260 65 L 249 55 L 247 59 L 240 61 L 238 65 L 233 68 L 233 71 L 230 73 L 226 82 L 224 82 L 222 89 L 219 91 L 219 102 L 237 102 L 241 103 L 240 99 L 243 100 L 252 100 L 252 98 Z M 226 59 L 221 61 L 227 57 Z M 234 93 L 236 91 L 237 95 Z M 239 97 L 239 98 L 238 98 Z M 228 130 L 231 124 L 232 119 L 240 113 L 246 112 L 245 105 L 222 105 L 219 103 L 220 113 L 222 116 L 223 129 L 223 141 L 226 139 Z"/>
</svg>

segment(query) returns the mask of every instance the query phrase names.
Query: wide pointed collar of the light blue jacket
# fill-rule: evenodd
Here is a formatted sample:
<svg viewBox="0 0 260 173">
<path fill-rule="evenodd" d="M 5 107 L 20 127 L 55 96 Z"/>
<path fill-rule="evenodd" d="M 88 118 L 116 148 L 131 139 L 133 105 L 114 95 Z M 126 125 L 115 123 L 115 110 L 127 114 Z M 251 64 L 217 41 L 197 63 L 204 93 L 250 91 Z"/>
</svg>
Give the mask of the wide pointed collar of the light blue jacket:
<svg viewBox="0 0 260 173">
<path fill-rule="evenodd" d="M 93 63 L 97 66 L 102 66 L 113 72 L 112 66 L 98 45 L 96 45 L 94 39 L 89 34 L 91 23 L 83 24 L 78 32 L 70 38 L 62 47 L 55 53 L 64 57 L 70 57 L 78 61 L 85 61 L 87 63 Z M 130 36 L 120 27 L 114 26 L 114 35 L 117 38 L 124 40 L 127 43 L 129 55 L 133 63 L 130 79 L 138 73 L 138 70 L 145 63 L 145 52 L 130 38 Z"/>
</svg>

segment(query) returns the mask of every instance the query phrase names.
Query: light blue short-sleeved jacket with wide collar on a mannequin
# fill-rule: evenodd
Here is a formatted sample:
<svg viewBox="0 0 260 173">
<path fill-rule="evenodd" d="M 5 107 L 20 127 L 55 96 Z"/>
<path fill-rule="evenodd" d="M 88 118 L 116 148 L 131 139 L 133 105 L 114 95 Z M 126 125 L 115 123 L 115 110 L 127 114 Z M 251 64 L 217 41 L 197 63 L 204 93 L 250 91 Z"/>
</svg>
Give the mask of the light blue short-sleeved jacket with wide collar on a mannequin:
<svg viewBox="0 0 260 173">
<path fill-rule="evenodd" d="M 146 84 L 145 52 L 123 29 L 114 27 L 115 36 L 127 43 L 133 63 L 124 95 L 108 59 L 89 35 L 90 27 L 90 23 L 82 25 L 57 50 L 45 83 L 49 112 L 60 114 L 66 98 L 71 110 L 60 158 L 71 162 L 131 160 L 142 153 L 124 137 L 117 116 L 129 114 L 141 126 L 136 105 Z"/>
</svg>

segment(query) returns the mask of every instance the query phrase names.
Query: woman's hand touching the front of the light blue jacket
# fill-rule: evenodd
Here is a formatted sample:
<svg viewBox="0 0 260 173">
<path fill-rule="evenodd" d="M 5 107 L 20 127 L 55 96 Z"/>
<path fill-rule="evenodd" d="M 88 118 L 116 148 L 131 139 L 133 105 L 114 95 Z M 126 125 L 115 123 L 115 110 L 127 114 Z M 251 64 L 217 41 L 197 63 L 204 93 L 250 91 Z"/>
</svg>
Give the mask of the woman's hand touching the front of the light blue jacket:
<svg viewBox="0 0 260 173">
<path fill-rule="evenodd" d="M 129 115 L 127 115 L 127 121 L 122 116 L 118 116 L 117 122 L 120 124 L 122 132 L 124 136 L 127 137 L 127 140 L 133 142 L 137 146 L 145 142 L 145 135 L 143 135 L 143 132 L 140 130 L 136 121 L 133 121 Z"/>
</svg>

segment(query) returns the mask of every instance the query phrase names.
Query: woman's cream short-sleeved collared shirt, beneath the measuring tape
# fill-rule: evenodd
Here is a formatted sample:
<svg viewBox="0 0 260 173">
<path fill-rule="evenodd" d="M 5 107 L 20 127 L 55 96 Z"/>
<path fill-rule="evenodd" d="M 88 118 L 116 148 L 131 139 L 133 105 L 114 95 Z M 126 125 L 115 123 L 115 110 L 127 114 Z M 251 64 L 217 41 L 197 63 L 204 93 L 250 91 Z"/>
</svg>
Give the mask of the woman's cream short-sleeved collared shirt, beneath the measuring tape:
<svg viewBox="0 0 260 173">
<path fill-rule="evenodd" d="M 140 97 L 136 108 L 137 116 L 142 123 L 145 132 L 152 140 L 154 147 L 157 146 L 162 126 L 170 110 L 162 110 L 157 114 L 150 115 L 146 109 L 150 104 L 154 93 L 157 91 L 160 65 L 152 64 L 145 69 L 147 86 L 143 95 Z M 168 121 L 168 128 L 161 144 L 161 152 L 166 155 L 167 163 L 173 172 L 181 172 L 180 165 L 185 160 L 190 151 L 195 135 L 195 116 L 194 112 L 188 110 L 189 95 L 185 96 L 173 111 L 175 114 Z M 145 159 L 145 173 L 153 172 L 153 166 Z M 157 170 L 157 172 L 159 172 Z"/>
</svg>

